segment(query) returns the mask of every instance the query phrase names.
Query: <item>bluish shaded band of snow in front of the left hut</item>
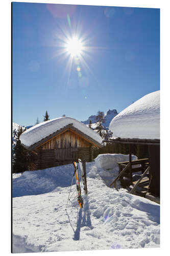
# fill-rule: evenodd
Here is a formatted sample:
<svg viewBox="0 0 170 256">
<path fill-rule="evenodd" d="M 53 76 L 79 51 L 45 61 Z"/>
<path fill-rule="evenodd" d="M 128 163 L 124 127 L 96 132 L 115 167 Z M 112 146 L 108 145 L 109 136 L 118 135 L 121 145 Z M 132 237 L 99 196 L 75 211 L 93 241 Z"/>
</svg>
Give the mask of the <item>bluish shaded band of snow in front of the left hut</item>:
<svg viewBox="0 0 170 256">
<path fill-rule="evenodd" d="M 26 171 L 18 177 L 13 174 L 12 196 L 39 195 L 53 191 L 57 187 L 69 186 L 73 173 L 74 166 L 67 164 L 64 167 L 61 165 L 43 170 Z"/>
</svg>

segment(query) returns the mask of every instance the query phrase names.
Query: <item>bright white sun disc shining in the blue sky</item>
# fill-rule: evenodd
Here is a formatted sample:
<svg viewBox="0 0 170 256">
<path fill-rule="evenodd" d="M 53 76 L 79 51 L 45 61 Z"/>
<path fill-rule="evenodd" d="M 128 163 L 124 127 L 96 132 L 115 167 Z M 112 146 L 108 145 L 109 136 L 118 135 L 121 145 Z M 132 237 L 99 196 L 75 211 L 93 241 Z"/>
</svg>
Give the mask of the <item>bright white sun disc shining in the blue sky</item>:
<svg viewBox="0 0 170 256">
<path fill-rule="evenodd" d="M 77 37 L 70 38 L 66 43 L 66 50 L 72 57 L 80 56 L 82 49 L 82 42 Z"/>
</svg>

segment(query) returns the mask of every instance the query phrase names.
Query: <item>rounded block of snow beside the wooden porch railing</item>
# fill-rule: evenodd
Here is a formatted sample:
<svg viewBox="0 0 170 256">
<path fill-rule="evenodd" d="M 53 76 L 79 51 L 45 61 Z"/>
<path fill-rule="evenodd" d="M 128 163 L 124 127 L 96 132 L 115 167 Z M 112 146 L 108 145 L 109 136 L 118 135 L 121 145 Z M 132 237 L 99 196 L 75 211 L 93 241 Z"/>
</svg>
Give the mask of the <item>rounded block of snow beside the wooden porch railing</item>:
<svg viewBox="0 0 170 256">
<path fill-rule="evenodd" d="M 132 160 L 137 160 L 137 157 L 132 155 Z M 129 161 L 129 155 L 123 154 L 101 154 L 94 159 L 95 165 L 98 168 L 113 169 L 118 168 L 118 162 Z"/>
</svg>

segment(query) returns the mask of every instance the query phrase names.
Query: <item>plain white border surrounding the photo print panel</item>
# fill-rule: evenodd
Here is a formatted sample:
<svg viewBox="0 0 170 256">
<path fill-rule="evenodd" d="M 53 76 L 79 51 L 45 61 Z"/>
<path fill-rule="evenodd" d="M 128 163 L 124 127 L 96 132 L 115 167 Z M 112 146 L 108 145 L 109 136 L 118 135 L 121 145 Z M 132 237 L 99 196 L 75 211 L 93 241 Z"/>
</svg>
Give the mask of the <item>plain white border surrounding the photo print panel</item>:
<svg viewBox="0 0 170 256">
<path fill-rule="evenodd" d="M 100 251 L 74 251 L 57 252 L 60 255 L 166 255 L 169 251 L 169 3 L 166 0 L 51 0 L 51 1 L 14 1 L 25 3 L 58 3 L 58 4 L 81 4 L 81 5 L 101 5 L 101 6 L 123 6 L 123 7 L 143 7 L 160 8 L 161 13 L 161 248 L 152 249 L 127 249 L 125 250 L 100 250 Z M 10 254 L 10 229 L 11 229 L 11 205 L 10 205 L 10 132 L 11 132 L 11 1 L 1 1 L 1 253 Z M 4 154 L 3 154 L 4 153 Z M 56 253 L 56 252 L 54 252 Z M 39 255 L 40 253 L 36 253 Z M 26 255 L 20 253 L 19 255 Z M 45 253 L 52 255 L 52 252 Z"/>
</svg>

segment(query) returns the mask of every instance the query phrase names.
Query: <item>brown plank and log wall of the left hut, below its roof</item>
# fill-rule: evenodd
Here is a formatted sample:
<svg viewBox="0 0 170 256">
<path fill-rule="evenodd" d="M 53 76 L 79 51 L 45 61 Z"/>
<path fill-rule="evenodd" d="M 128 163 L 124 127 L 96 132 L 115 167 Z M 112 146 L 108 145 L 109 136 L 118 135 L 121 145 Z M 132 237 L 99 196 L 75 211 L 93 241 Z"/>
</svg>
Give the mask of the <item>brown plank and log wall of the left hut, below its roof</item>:
<svg viewBox="0 0 170 256">
<path fill-rule="evenodd" d="M 92 160 L 93 146 L 76 132 L 67 130 L 35 148 L 38 153 L 32 169 L 45 169 L 72 163 L 79 158 Z"/>
</svg>

